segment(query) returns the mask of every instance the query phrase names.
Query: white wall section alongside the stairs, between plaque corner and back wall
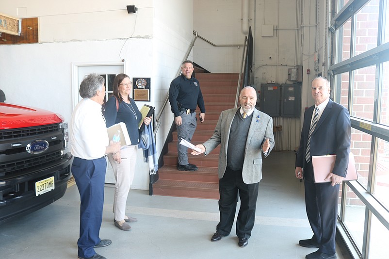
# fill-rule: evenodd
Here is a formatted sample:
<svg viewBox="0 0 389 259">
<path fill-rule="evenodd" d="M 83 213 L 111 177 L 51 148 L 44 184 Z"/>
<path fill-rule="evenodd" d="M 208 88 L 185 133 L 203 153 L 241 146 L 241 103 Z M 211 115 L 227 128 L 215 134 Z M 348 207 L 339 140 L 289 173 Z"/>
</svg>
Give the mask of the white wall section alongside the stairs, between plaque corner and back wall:
<svg viewBox="0 0 389 259">
<path fill-rule="evenodd" d="M 158 0 L 154 4 L 153 99 L 156 101 L 158 115 L 168 96 L 170 82 L 177 76 L 193 38 L 193 0 Z M 192 56 L 189 58 L 192 59 Z M 160 118 L 161 128 L 156 136 L 159 154 L 172 126 L 173 117 L 167 102 Z"/>
</svg>

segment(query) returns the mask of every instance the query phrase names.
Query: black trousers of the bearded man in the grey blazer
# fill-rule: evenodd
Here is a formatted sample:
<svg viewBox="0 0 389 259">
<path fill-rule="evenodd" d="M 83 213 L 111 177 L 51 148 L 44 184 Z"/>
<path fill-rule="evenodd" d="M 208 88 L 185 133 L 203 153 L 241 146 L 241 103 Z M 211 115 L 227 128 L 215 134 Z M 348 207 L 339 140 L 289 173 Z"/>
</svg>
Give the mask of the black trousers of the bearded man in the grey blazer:
<svg viewBox="0 0 389 259">
<path fill-rule="evenodd" d="M 244 183 L 242 170 L 233 171 L 228 167 L 223 178 L 219 179 L 220 222 L 216 226 L 216 231 L 225 236 L 231 232 L 237 207 L 238 190 L 241 208 L 236 221 L 236 235 L 239 238 L 250 238 L 255 222 L 259 183 Z"/>
</svg>

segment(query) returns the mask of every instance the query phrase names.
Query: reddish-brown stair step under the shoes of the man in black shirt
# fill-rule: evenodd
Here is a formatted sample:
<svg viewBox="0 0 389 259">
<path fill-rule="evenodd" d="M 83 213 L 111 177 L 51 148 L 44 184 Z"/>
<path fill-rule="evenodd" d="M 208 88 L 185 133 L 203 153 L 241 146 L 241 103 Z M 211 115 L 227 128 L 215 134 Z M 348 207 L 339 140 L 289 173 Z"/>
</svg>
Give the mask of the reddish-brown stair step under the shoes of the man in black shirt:
<svg viewBox="0 0 389 259">
<path fill-rule="evenodd" d="M 217 168 L 214 167 L 199 167 L 197 171 L 178 171 L 177 166 L 166 165 L 158 173 L 159 178 L 163 180 L 205 183 L 218 183 L 219 181 Z"/>
</svg>

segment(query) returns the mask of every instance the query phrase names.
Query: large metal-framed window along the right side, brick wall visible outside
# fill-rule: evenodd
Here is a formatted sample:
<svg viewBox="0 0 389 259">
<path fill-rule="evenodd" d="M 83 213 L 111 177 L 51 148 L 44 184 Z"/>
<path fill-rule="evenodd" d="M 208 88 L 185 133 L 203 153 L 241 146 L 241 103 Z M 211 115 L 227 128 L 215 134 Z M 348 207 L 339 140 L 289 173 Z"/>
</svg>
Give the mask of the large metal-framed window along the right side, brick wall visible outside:
<svg viewBox="0 0 389 259">
<path fill-rule="evenodd" d="M 331 96 L 350 111 L 358 180 L 343 183 L 340 233 L 363 259 L 388 258 L 389 3 L 332 0 Z M 332 10 L 334 10 L 332 9 Z"/>
</svg>

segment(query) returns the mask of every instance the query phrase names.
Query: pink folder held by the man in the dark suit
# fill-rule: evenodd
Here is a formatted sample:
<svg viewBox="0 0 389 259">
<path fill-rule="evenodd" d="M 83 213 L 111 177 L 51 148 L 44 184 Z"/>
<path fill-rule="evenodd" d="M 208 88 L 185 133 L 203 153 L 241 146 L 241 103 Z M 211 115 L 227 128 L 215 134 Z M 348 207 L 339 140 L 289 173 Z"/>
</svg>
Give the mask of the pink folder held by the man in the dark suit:
<svg viewBox="0 0 389 259">
<path fill-rule="evenodd" d="M 334 168 L 336 155 L 312 156 L 313 175 L 315 183 L 330 182 L 324 180 Z M 347 175 L 343 181 L 357 180 L 357 168 L 355 167 L 354 154 L 350 152 L 349 162 L 347 167 Z"/>
</svg>

